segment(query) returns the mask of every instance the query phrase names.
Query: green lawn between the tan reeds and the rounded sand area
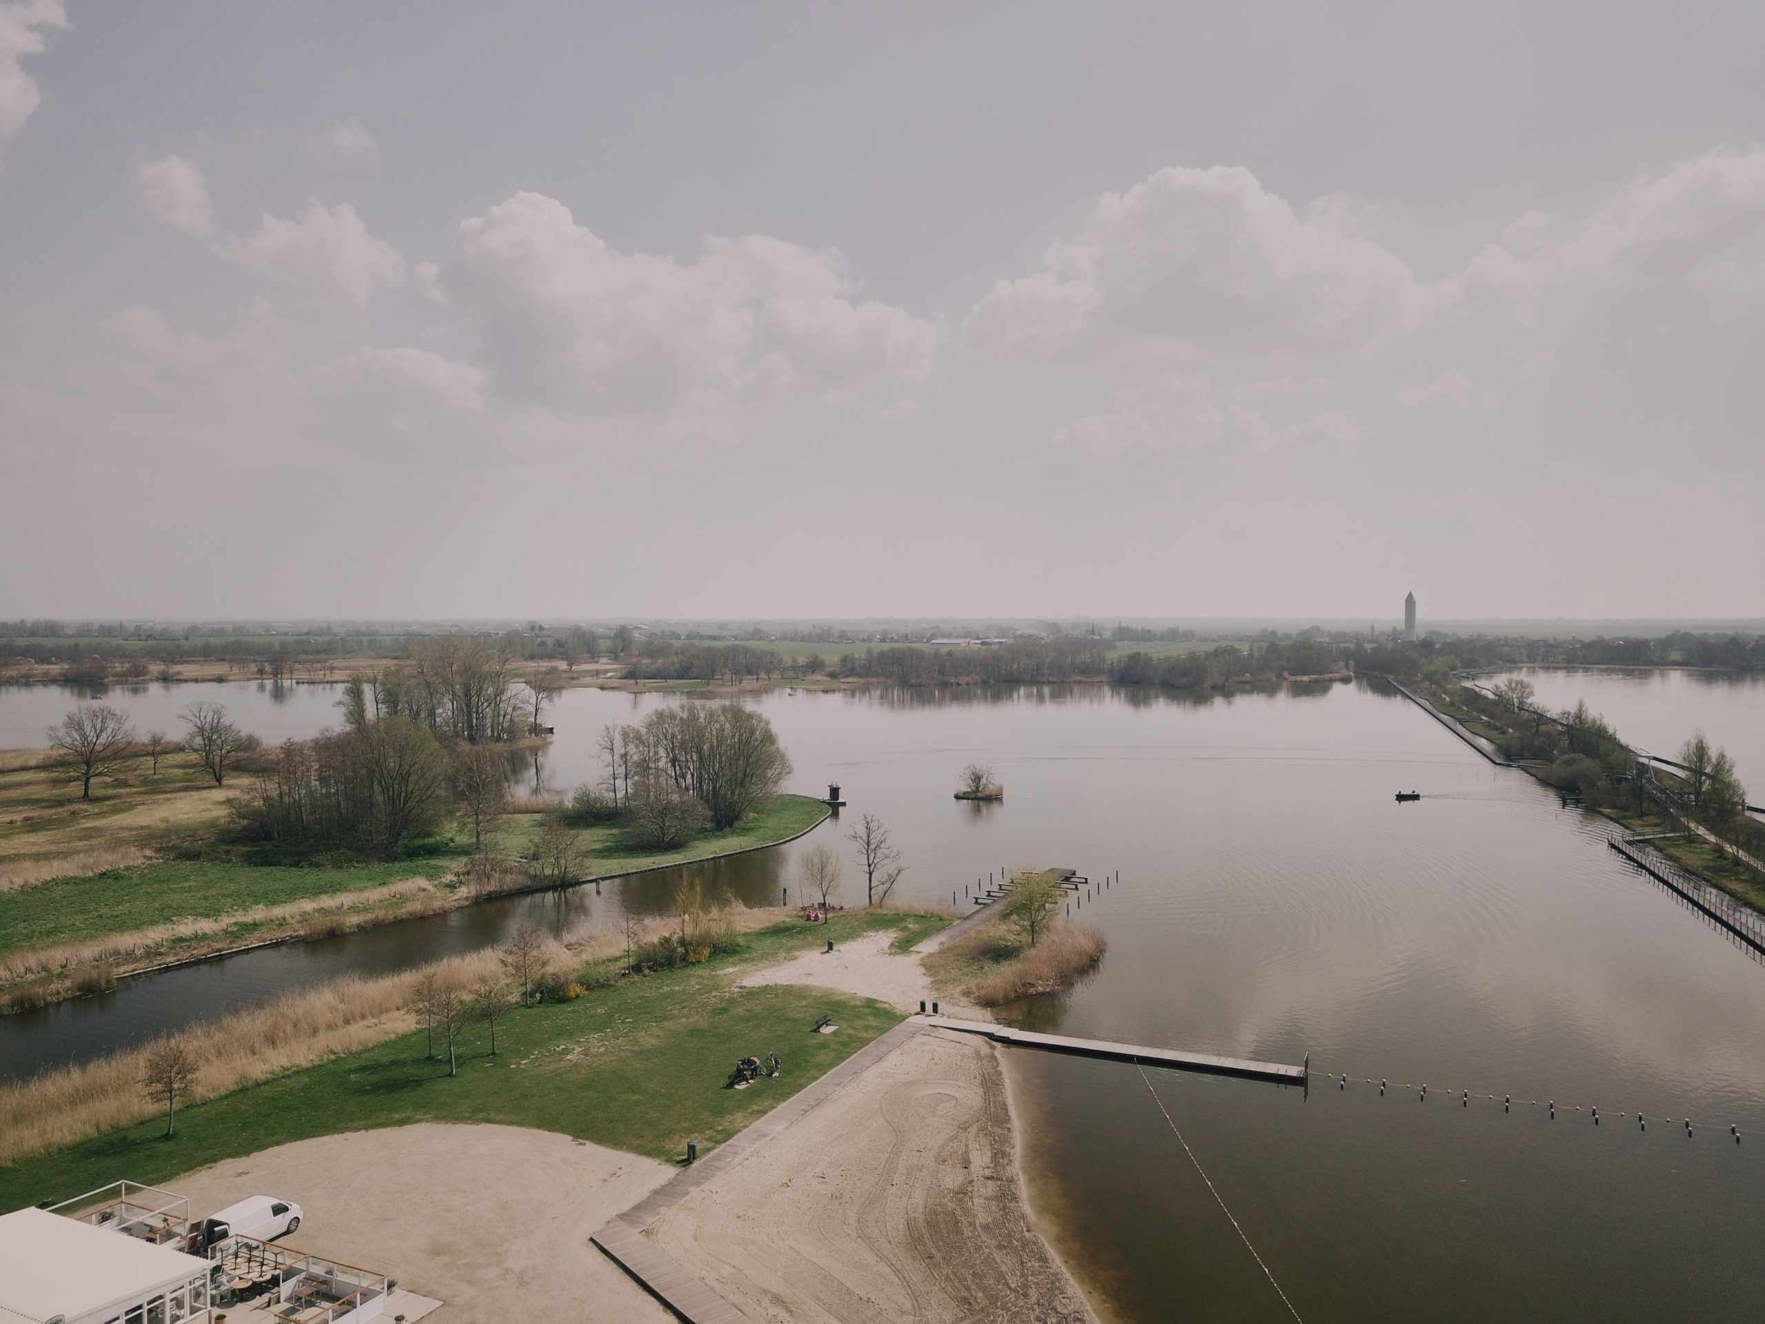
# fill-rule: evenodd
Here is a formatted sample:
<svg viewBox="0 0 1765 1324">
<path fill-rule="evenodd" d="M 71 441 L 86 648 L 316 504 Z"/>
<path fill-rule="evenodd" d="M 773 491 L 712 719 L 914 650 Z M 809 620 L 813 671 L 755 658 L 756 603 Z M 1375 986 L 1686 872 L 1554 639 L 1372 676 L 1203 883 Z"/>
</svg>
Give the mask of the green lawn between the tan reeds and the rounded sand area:
<svg viewBox="0 0 1765 1324">
<path fill-rule="evenodd" d="M 902 1019 L 893 1008 L 845 994 L 789 985 L 736 989 L 729 978 L 734 967 L 875 929 L 900 929 L 900 941 L 913 943 L 944 923 L 849 914 L 828 925 L 777 925 L 750 934 L 747 950 L 732 957 L 514 1012 L 498 1026 L 496 1057 L 484 1027 L 473 1026 L 459 1045 L 457 1077 L 447 1073 L 445 1049 L 429 1059 L 424 1033 L 404 1034 L 184 1109 L 171 1140 L 157 1119 L 0 1169 L 0 1209 L 65 1199 L 124 1176 L 168 1181 L 314 1135 L 417 1121 L 533 1126 L 660 1160 L 683 1158 L 687 1140 L 697 1140 L 704 1153 Z M 840 1029 L 814 1033 L 822 1015 Z M 738 1057 L 773 1052 L 784 1059 L 778 1080 L 722 1087 Z"/>
</svg>

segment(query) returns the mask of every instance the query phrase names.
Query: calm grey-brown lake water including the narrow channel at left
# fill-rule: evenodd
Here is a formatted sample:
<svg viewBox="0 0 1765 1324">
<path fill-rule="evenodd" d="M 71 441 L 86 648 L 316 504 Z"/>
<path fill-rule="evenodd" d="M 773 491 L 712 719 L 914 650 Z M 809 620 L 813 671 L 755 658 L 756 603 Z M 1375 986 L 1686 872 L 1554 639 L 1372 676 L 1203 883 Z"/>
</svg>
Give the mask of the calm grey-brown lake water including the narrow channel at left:
<svg viewBox="0 0 1765 1324">
<path fill-rule="evenodd" d="M 0 694 L 0 727 L 21 694 Z M 259 731 L 275 713 L 335 720 L 318 701 L 297 708 L 304 696 L 272 708 L 237 694 L 221 697 Z M 657 703 L 669 699 L 568 692 L 540 782 L 588 780 L 593 731 Z M 1108 937 L 1101 971 L 1010 1008 L 1017 1024 L 1310 1054 L 1310 1091 L 1010 1054 L 1045 1230 L 1119 1319 L 1292 1319 L 1160 1102 L 1304 1320 L 1758 1317 L 1765 967 L 1624 867 L 1601 819 L 1371 685 L 1211 703 L 1022 687 L 757 704 L 792 754 L 792 789 L 838 780 L 845 826 L 863 810 L 893 826 L 911 895 L 948 900 L 1027 861 L 1119 870 L 1080 911 Z M 1749 713 L 1756 726 L 1760 706 Z M 1719 738 L 1717 722 L 1694 724 Z M 950 798 L 976 759 L 999 770 L 1003 803 Z M 1396 805 L 1398 789 L 1423 800 Z M 706 867 L 710 890 L 775 900 L 794 890 L 794 853 L 840 831 Z M 344 969 L 496 941 L 522 916 L 655 909 L 669 886 L 642 876 L 173 971 L 7 1019 L 0 1063 L 30 1070 Z M 847 899 L 861 899 L 851 881 Z M 1326 1084 L 1343 1072 L 1347 1089 Z"/>
</svg>

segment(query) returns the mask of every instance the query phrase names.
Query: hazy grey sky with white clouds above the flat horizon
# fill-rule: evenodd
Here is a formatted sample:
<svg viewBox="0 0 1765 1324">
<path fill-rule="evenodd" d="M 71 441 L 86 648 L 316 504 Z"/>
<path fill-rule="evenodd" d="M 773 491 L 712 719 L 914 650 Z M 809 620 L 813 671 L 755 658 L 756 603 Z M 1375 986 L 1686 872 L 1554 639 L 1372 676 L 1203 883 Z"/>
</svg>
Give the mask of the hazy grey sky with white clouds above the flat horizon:
<svg viewBox="0 0 1765 1324">
<path fill-rule="evenodd" d="M 0 618 L 1765 616 L 1761 49 L 0 0 Z"/>
</svg>

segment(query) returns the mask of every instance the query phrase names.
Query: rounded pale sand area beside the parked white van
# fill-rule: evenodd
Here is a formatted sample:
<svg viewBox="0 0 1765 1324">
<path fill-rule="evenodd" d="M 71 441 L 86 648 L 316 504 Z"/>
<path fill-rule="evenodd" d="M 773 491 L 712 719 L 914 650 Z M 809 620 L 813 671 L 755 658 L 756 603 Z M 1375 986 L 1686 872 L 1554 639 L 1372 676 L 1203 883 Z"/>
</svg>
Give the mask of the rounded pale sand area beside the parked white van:
<svg viewBox="0 0 1765 1324">
<path fill-rule="evenodd" d="M 297 1200 L 305 1222 L 282 1245 L 445 1301 L 425 1324 L 669 1324 L 588 1237 L 671 1176 L 665 1163 L 552 1132 L 422 1123 L 298 1140 L 166 1186 L 196 1218 L 247 1195 Z"/>
</svg>

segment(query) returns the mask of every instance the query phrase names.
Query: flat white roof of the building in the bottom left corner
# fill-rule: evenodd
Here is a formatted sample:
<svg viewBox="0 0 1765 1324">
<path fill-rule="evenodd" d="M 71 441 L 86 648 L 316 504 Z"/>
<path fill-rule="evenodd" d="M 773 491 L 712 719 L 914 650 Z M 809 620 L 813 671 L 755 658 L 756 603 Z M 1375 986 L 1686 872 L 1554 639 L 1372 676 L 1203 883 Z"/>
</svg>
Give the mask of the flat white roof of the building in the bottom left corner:
<svg viewBox="0 0 1765 1324">
<path fill-rule="evenodd" d="M 25 1319 L 78 1319 L 207 1273 L 196 1255 L 46 1209 L 0 1215 L 0 1312 Z"/>
</svg>

